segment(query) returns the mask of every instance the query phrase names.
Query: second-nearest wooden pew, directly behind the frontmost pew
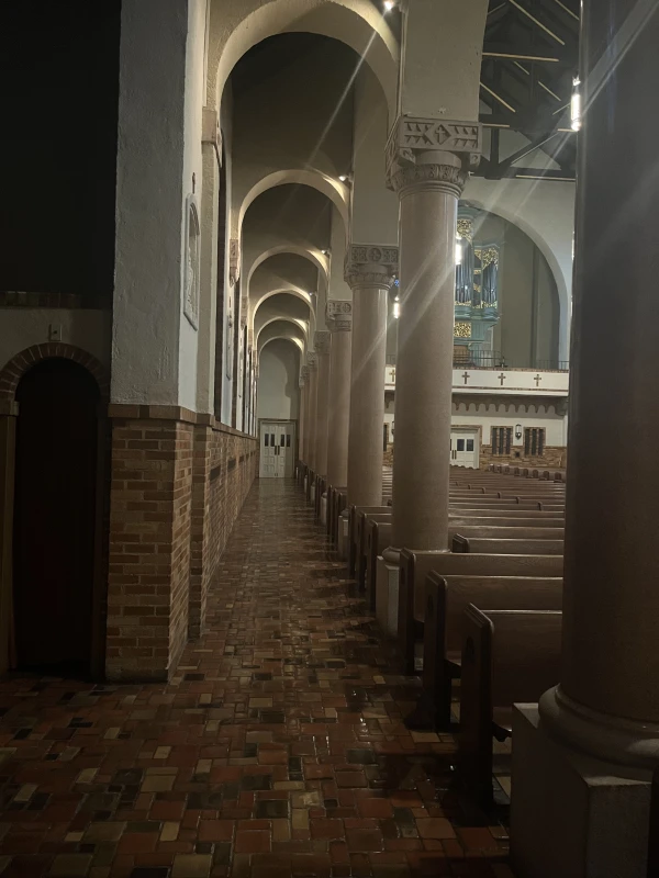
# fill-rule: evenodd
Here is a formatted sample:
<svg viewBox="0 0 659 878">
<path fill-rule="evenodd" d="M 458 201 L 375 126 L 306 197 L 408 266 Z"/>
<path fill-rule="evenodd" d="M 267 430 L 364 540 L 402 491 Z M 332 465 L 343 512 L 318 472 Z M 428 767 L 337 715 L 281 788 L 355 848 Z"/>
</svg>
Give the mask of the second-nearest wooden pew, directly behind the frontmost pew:
<svg viewBox="0 0 659 878">
<path fill-rule="evenodd" d="M 481 610 L 560 610 L 560 576 L 440 576 L 426 578 L 423 641 L 424 703 L 437 728 L 450 727 L 453 680 L 459 677 L 462 620 L 470 604 Z"/>
</svg>

